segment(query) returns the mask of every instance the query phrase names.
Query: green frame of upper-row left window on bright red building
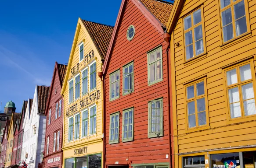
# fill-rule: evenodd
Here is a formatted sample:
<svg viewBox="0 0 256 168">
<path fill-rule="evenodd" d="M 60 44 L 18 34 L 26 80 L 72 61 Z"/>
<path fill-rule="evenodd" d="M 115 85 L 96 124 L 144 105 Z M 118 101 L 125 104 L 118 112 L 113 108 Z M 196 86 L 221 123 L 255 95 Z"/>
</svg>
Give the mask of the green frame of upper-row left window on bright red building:
<svg viewBox="0 0 256 168">
<path fill-rule="evenodd" d="M 111 77 L 115 75 L 114 81 L 111 81 Z M 118 78 L 118 79 L 116 79 Z M 112 84 L 115 84 L 114 97 L 112 98 Z M 118 91 L 117 91 L 118 89 Z M 120 70 L 115 70 L 114 72 L 109 74 L 109 101 L 113 101 L 120 97 Z M 118 95 L 117 95 L 118 94 Z"/>
</svg>

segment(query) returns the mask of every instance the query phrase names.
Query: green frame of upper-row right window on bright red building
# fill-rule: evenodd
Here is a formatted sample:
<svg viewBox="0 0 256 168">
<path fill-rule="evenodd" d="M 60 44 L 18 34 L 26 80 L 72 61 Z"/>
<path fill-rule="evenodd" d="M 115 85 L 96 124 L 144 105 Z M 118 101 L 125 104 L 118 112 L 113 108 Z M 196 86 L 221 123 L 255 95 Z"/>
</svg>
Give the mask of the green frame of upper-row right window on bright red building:
<svg viewBox="0 0 256 168">
<path fill-rule="evenodd" d="M 157 58 L 157 52 L 160 53 L 160 58 Z M 150 62 L 150 56 L 152 54 L 154 54 L 154 59 L 155 60 Z M 156 74 L 157 74 L 157 63 L 158 62 L 160 63 L 159 64 L 159 68 L 160 68 L 160 70 L 159 70 L 159 73 L 160 73 L 159 74 L 160 75 L 159 79 L 157 79 L 157 76 L 156 76 Z M 151 72 L 150 71 L 151 70 L 150 66 L 152 66 L 152 65 L 154 65 L 154 80 L 153 81 L 151 81 L 151 75 L 150 75 L 150 72 Z M 156 84 L 156 83 L 158 83 L 162 80 L 163 80 L 163 77 L 162 77 L 162 45 L 160 45 L 160 46 L 156 47 L 155 49 L 152 49 L 151 51 L 148 52 L 148 86 L 150 86 L 152 84 Z"/>
</svg>

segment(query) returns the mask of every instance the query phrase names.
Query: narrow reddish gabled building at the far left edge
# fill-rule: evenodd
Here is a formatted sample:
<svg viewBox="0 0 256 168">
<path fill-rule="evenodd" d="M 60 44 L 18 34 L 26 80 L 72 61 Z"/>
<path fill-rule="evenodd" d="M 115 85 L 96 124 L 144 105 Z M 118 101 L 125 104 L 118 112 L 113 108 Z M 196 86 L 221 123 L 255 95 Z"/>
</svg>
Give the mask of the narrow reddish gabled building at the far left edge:
<svg viewBox="0 0 256 168">
<path fill-rule="evenodd" d="M 1 146 L 0 168 L 4 168 L 5 161 L 7 158 L 6 156 L 7 145 L 8 145 L 7 134 L 10 128 L 10 123 L 11 123 L 11 120 L 7 120 L 4 127 L 4 136 L 1 142 L 2 146 Z"/>
</svg>

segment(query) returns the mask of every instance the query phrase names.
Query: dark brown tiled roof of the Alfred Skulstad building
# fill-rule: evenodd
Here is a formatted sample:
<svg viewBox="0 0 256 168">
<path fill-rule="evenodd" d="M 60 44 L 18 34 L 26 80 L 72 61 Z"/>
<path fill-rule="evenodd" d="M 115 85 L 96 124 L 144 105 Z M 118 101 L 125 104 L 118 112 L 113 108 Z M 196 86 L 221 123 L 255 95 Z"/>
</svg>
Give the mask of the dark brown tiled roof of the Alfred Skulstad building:
<svg viewBox="0 0 256 168">
<path fill-rule="evenodd" d="M 114 27 L 85 20 L 83 20 L 83 23 L 93 38 L 101 56 L 105 59 Z"/>
</svg>

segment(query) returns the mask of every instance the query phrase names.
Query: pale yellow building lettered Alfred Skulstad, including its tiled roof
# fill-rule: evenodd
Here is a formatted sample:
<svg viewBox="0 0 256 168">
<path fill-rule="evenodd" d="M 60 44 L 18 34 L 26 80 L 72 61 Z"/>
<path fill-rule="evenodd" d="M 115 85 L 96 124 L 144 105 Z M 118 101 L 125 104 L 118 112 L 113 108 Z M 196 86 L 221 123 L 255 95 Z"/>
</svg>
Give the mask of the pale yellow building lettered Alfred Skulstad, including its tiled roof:
<svg viewBox="0 0 256 168">
<path fill-rule="evenodd" d="M 61 95 L 64 97 L 63 168 L 101 168 L 102 65 L 113 27 L 79 18 Z"/>
</svg>

